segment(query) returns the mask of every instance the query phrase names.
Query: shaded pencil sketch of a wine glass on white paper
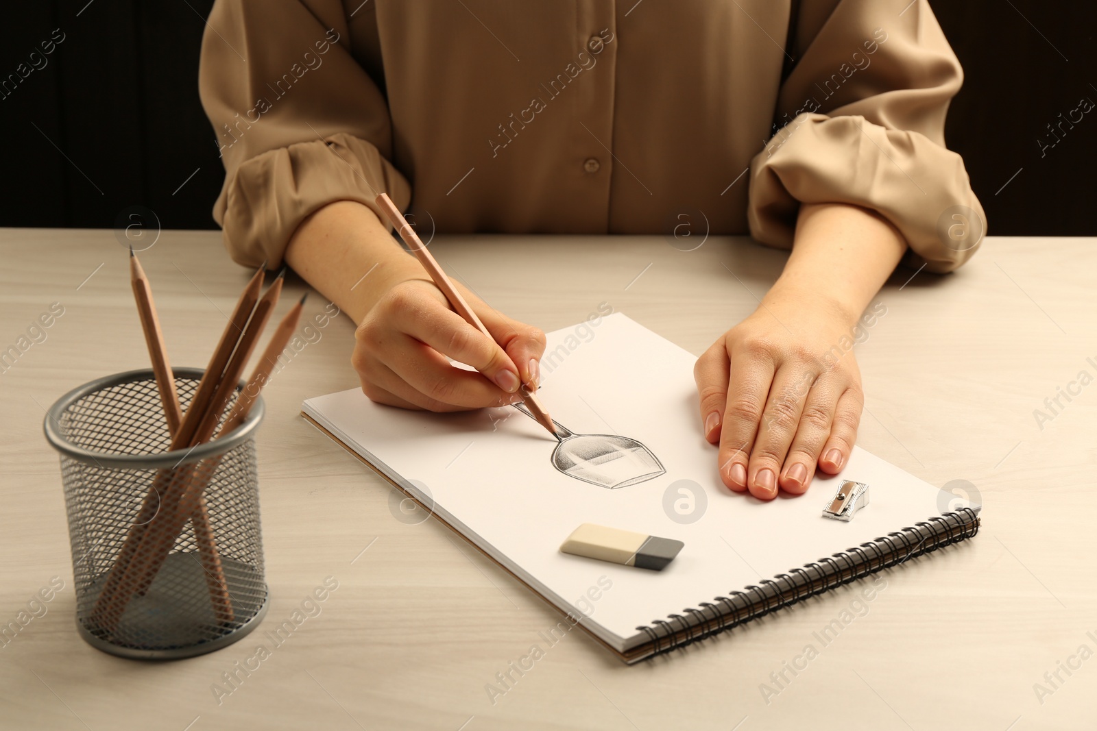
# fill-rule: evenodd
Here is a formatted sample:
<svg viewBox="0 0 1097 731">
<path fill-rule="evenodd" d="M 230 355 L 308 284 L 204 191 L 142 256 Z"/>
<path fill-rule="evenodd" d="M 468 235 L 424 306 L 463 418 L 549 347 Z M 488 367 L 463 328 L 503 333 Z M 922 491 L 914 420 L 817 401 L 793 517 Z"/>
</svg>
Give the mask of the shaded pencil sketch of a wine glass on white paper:
<svg viewBox="0 0 1097 731">
<path fill-rule="evenodd" d="M 533 418 L 524 404 L 513 406 Z M 574 434 L 559 422 L 553 423 L 559 443 L 552 453 L 552 465 L 568 477 L 617 490 L 666 472 L 652 450 L 636 439 L 613 434 Z"/>
</svg>

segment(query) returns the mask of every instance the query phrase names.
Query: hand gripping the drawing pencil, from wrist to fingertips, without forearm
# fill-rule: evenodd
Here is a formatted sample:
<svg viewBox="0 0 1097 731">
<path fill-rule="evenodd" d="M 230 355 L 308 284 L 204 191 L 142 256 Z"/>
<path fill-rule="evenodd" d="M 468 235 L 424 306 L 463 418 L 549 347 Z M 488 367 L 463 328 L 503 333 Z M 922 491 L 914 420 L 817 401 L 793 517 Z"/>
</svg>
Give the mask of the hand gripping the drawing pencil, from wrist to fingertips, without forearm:
<svg viewBox="0 0 1097 731">
<path fill-rule="evenodd" d="M 544 333 L 454 286 L 495 341 L 454 312 L 429 279 L 400 281 L 375 300 L 354 333 L 351 363 L 371 400 L 463 411 L 518 401 L 522 384 L 536 389 Z M 459 368 L 449 358 L 476 370 Z"/>
</svg>

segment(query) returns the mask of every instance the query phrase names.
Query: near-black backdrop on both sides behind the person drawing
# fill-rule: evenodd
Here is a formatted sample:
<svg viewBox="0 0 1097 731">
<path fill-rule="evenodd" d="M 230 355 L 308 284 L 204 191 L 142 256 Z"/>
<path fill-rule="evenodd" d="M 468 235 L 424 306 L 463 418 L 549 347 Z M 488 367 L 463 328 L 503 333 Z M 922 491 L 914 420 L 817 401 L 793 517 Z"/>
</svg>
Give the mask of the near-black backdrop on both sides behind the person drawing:
<svg viewBox="0 0 1097 731">
<path fill-rule="evenodd" d="M 989 232 L 1097 235 L 1097 217 L 1086 216 L 1097 194 L 1097 110 L 1064 125 L 1042 156 L 1038 144 L 1054 141 L 1047 126 L 1083 96 L 1097 102 L 1097 3 L 1068 3 L 1071 12 L 1037 0 L 930 4 L 966 75 L 948 145 L 964 157 Z M 0 226 L 109 228 L 140 205 L 163 228 L 216 228 L 224 170 L 197 94 L 212 5 L 34 0 L 4 9 L 0 79 L 54 28 L 66 38 L 0 99 Z"/>
</svg>

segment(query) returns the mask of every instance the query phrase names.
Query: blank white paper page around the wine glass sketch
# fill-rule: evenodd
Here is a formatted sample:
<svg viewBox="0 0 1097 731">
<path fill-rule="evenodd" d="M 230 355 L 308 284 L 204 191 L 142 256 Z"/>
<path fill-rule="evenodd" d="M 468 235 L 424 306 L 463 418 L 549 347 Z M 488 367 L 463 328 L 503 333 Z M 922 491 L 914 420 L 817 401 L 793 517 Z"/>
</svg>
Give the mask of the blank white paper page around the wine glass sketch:
<svg viewBox="0 0 1097 731">
<path fill-rule="evenodd" d="M 579 606 L 593 607 L 584 625 L 619 651 L 646 639 L 640 625 L 940 514 L 941 491 L 859 448 L 840 478 L 867 482 L 870 504 L 850 523 L 822 516 L 836 478 L 816 477 L 806 494 L 771 502 L 731 492 L 701 433 L 694 359 L 620 313 L 548 334 L 540 396 L 553 419 L 575 434 L 636 439 L 665 469 L 617 489 L 559 471 L 551 460 L 556 439 L 513 408 L 405 411 L 352 389 L 308 399 L 305 412 L 412 493 L 425 484 L 443 519 L 559 608 L 578 615 L 575 605 L 593 587 L 597 601 Z M 665 509 L 679 480 L 703 493 L 692 511 L 677 491 Z M 676 510 L 675 501 L 685 502 Z M 701 517 L 680 523 L 677 511 Z M 583 523 L 686 546 L 663 571 L 561 553 Z M 602 576 L 611 587 L 599 587 Z"/>
</svg>

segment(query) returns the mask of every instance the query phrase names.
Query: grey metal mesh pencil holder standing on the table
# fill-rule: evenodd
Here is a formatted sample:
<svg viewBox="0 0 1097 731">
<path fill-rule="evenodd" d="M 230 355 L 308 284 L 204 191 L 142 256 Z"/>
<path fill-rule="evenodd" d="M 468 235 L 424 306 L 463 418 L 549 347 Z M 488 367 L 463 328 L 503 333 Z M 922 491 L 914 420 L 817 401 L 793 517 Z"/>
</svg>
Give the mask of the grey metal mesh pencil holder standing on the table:
<svg viewBox="0 0 1097 731">
<path fill-rule="evenodd" d="M 185 413 L 203 372 L 173 370 Z M 77 628 L 90 644 L 127 658 L 188 658 L 259 624 L 268 604 L 255 448 L 262 418 L 257 397 L 231 433 L 169 452 L 151 370 L 84 384 L 49 409 Z"/>
</svg>

